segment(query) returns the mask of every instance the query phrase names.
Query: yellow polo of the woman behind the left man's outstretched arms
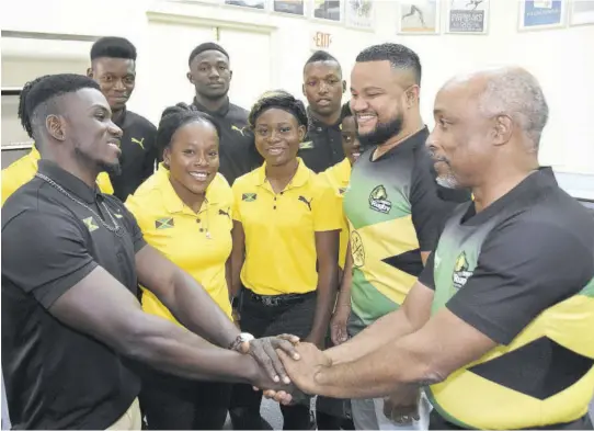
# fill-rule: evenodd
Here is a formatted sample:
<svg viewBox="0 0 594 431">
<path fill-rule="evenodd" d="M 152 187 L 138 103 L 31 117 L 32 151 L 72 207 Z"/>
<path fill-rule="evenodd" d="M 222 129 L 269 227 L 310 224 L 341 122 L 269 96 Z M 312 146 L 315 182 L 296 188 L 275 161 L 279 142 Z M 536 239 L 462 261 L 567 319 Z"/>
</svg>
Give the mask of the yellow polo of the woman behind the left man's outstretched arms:
<svg viewBox="0 0 594 431">
<path fill-rule="evenodd" d="M 217 173 L 196 214 L 178 196 L 162 163 L 126 200 L 138 220 L 145 240 L 204 286 L 231 318 L 231 303 L 225 264 L 231 254 L 231 206 L 233 195 Z M 142 290 L 142 309 L 178 325 L 169 309 L 149 291 Z"/>
</svg>

